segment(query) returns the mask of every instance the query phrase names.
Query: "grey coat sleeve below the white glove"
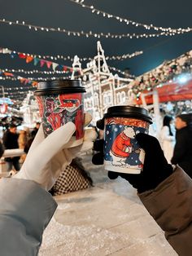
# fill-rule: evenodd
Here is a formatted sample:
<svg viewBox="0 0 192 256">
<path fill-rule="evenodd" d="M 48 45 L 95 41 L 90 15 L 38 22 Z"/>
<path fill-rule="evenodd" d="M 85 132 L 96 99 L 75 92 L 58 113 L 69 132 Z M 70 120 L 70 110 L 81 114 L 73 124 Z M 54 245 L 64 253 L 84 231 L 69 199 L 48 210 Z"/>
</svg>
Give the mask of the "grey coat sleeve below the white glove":
<svg viewBox="0 0 192 256">
<path fill-rule="evenodd" d="M 49 192 L 24 179 L 0 180 L 0 254 L 38 254 L 42 233 L 57 204 Z"/>
</svg>

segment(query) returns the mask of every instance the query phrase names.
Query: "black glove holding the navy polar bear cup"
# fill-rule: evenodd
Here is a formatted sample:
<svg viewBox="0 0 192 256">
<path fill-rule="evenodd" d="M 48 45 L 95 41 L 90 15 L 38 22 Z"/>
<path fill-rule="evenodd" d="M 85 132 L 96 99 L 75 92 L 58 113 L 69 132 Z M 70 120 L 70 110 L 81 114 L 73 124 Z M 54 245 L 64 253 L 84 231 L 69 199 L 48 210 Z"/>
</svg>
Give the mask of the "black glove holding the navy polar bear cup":
<svg viewBox="0 0 192 256">
<path fill-rule="evenodd" d="M 146 152 L 141 174 L 123 174 L 109 171 L 108 177 L 116 179 L 120 175 L 120 177 L 128 180 L 133 185 L 133 188 L 137 188 L 137 192 L 142 193 L 156 188 L 159 183 L 172 174 L 173 169 L 171 165 L 168 165 L 158 139 L 142 133 L 137 134 L 136 139 Z M 94 150 L 98 151 L 92 159 L 94 165 L 102 165 L 104 159 L 103 140 L 97 140 L 94 143 Z"/>
</svg>

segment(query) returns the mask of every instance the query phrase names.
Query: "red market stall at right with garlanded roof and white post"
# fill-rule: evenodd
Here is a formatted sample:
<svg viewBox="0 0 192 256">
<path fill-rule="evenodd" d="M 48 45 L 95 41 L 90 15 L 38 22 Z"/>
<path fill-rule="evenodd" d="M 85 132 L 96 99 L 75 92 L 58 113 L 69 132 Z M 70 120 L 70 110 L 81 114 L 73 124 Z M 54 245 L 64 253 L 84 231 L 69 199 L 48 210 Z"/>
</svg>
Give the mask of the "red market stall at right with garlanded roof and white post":
<svg viewBox="0 0 192 256">
<path fill-rule="evenodd" d="M 175 116 L 192 109 L 191 68 L 192 51 L 189 51 L 129 83 L 137 95 L 135 104 L 151 111 L 157 137 L 162 126 L 162 113 Z"/>
</svg>

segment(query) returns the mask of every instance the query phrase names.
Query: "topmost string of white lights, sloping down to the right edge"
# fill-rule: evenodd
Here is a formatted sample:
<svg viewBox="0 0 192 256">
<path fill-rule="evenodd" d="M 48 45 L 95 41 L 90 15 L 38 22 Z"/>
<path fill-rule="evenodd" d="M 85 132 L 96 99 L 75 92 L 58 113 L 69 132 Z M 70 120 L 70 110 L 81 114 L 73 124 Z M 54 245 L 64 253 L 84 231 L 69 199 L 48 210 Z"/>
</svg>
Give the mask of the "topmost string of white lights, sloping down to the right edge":
<svg viewBox="0 0 192 256">
<path fill-rule="evenodd" d="M 120 22 L 120 23 L 124 22 L 127 25 L 131 24 L 135 27 L 140 26 L 140 27 L 143 27 L 146 30 L 155 29 L 156 31 L 161 30 L 161 31 L 168 32 L 168 33 L 177 33 L 177 32 L 179 32 L 179 33 L 180 32 L 181 33 L 188 33 L 188 32 L 191 31 L 191 28 L 189 28 L 189 27 L 187 29 L 182 29 L 182 28 L 172 29 L 172 28 L 157 27 L 154 24 L 143 24 L 143 23 L 140 23 L 140 22 L 137 22 L 137 21 L 134 21 L 134 20 L 124 19 L 120 16 L 112 15 L 111 13 L 107 13 L 105 11 L 98 10 L 98 9 L 94 8 L 93 5 L 91 5 L 91 6 L 85 5 L 85 3 L 83 3 L 79 0 L 69 0 L 69 1 L 70 2 L 75 2 L 79 6 L 89 9 L 92 13 L 94 13 L 96 15 L 103 15 L 104 18 L 115 19 L 118 22 Z"/>
</svg>

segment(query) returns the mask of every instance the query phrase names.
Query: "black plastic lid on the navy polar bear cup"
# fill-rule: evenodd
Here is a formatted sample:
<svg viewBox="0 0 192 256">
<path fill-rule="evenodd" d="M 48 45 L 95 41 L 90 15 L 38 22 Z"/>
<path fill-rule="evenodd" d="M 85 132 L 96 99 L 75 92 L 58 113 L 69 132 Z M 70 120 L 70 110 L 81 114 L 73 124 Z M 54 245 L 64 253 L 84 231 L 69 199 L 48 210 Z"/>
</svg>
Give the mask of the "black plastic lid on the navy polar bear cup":
<svg viewBox="0 0 192 256">
<path fill-rule="evenodd" d="M 103 118 L 108 117 L 133 117 L 143 121 L 148 121 L 152 124 L 152 118 L 150 117 L 146 108 L 139 108 L 128 105 L 120 105 L 108 108 L 107 113 L 104 114 Z"/>
</svg>

